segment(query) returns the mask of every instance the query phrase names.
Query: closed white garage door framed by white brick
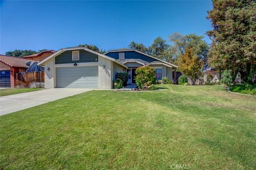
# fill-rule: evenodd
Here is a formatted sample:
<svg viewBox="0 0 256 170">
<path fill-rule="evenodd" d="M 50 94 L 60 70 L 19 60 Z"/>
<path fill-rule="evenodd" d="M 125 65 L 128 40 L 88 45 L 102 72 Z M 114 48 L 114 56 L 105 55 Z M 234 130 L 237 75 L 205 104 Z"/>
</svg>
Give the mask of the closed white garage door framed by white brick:
<svg viewBox="0 0 256 170">
<path fill-rule="evenodd" d="M 98 66 L 56 68 L 56 86 L 98 88 Z"/>
</svg>

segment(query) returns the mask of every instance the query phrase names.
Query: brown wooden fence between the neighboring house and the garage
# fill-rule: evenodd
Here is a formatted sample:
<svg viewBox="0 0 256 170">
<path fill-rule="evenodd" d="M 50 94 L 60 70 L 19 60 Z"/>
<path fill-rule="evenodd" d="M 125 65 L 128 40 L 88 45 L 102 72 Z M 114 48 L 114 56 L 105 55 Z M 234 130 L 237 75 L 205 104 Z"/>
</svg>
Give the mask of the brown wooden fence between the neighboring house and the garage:
<svg viewBox="0 0 256 170">
<path fill-rule="evenodd" d="M 19 72 L 15 75 L 15 88 L 43 88 L 44 71 Z"/>
</svg>

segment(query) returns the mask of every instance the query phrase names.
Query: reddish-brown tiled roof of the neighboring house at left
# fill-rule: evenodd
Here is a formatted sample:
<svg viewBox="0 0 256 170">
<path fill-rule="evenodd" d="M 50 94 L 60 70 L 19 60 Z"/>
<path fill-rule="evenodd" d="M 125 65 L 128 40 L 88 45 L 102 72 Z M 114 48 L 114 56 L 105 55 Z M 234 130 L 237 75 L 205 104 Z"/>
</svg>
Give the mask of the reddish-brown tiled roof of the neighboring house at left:
<svg viewBox="0 0 256 170">
<path fill-rule="evenodd" d="M 5 63 L 9 67 L 22 67 L 29 68 L 35 61 L 15 58 L 13 56 L 0 55 L 0 61 Z M 27 64 L 30 62 L 30 64 Z"/>
</svg>

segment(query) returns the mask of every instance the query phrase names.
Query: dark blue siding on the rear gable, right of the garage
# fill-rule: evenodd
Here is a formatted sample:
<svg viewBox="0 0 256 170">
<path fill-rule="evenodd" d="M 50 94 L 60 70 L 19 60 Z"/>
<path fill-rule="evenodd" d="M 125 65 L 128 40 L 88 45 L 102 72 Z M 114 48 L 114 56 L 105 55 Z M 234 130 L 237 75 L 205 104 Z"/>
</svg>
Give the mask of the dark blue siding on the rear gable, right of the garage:
<svg viewBox="0 0 256 170">
<path fill-rule="evenodd" d="M 110 56 L 111 58 L 114 59 L 119 59 L 119 53 L 123 53 L 123 52 L 110 52 L 107 53 L 106 55 Z M 147 55 L 135 52 L 135 51 L 126 51 L 124 52 L 124 59 L 141 59 L 147 62 L 153 62 L 153 61 L 157 61 L 156 59 L 153 59 Z"/>
</svg>

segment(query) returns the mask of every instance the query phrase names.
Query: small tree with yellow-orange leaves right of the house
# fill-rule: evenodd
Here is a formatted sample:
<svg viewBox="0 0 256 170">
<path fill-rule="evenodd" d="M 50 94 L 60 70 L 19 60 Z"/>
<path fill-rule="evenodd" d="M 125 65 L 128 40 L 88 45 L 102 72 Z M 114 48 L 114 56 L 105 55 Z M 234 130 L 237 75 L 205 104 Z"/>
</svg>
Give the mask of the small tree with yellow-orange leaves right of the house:
<svg viewBox="0 0 256 170">
<path fill-rule="evenodd" d="M 187 47 L 185 54 L 180 55 L 178 63 L 182 74 L 188 76 L 191 79 L 192 85 L 195 85 L 196 78 L 201 74 L 203 62 L 196 56 L 194 48 Z"/>
</svg>

